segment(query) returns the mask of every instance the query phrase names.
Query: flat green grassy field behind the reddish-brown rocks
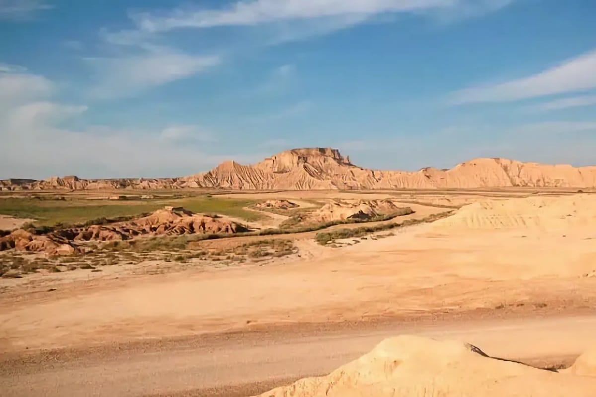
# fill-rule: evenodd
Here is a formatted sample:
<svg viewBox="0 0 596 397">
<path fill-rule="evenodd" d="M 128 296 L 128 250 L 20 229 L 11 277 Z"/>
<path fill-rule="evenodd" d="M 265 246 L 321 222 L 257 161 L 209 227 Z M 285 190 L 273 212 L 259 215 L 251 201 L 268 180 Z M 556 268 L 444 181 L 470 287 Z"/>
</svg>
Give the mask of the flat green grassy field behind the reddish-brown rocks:
<svg viewBox="0 0 596 397">
<path fill-rule="evenodd" d="M 97 218 L 116 218 L 140 215 L 159 210 L 168 205 L 184 207 L 193 212 L 228 215 L 246 221 L 259 220 L 262 215 L 243 208 L 253 205 L 250 200 L 215 198 L 198 195 L 183 198 L 160 198 L 150 200 L 88 200 L 66 196 L 55 198 L 0 197 L 0 214 L 17 218 L 34 219 L 37 226 L 85 223 Z"/>
</svg>

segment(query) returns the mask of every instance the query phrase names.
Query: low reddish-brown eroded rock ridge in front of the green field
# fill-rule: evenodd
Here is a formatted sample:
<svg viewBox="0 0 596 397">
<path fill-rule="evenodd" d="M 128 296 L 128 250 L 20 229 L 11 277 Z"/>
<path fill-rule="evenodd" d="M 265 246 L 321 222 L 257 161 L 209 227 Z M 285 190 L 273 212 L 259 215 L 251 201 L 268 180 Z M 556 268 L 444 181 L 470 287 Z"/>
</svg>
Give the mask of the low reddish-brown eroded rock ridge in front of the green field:
<svg viewBox="0 0 596 397">
<path fill-rule="evenodd" d="M 193 214 L 184 208 L 166 207 L 145 217 L 130 221 L 87 227 L 55 230 L 38 236 L 26 230 L 15 230 L 0 238 L 0 251 L 15 248 L 20 251 L 73 254 L 86 241 L 129 240 L 138 236 L 176 236 L 192 234 L 232 234 L 248 232 L 244 226 L 224 218 Z"/>
</svg>

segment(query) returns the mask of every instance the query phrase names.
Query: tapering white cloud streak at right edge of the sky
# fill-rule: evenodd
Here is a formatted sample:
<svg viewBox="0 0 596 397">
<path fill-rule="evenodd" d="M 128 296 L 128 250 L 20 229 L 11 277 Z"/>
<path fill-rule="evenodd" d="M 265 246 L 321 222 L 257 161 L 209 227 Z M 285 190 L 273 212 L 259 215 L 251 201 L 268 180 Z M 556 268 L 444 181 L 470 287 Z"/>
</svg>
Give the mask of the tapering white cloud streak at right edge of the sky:
<svg viewBox="0 0 596 397">
<path fill-rule="evenodd" d="M 505 102 L 596 88 L 596 49 L 542 73 L 496 85 L 471 87 L 452 96 L 455 104 Z"/>
</svg>

